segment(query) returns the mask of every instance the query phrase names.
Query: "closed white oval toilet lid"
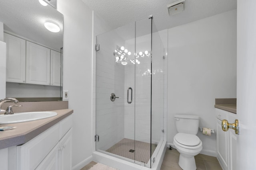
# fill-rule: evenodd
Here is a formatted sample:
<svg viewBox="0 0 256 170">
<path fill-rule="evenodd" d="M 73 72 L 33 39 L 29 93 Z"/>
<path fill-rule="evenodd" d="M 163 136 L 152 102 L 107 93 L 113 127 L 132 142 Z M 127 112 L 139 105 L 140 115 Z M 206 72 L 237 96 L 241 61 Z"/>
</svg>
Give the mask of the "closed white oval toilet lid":
<svg viewBox="0 0 256 170">
<path fill-rule="evenodd" d="M 186 146 L 196 146 L 200 143 L 200 139 L 196 135 L 186 134 L 186 133 L 177 133 L 175 139 L 178 143 Z"/>
</svg>

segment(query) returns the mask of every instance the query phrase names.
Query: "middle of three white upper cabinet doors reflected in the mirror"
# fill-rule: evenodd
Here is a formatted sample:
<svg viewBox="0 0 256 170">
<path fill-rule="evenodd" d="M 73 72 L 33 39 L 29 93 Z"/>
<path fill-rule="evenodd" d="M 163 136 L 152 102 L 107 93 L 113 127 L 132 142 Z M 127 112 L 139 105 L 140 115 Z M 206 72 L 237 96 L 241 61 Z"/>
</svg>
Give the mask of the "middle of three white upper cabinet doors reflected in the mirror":
<svg viewBox="0 0 256 170">
<path fill-rule="evenodd" d="M 26 83 L 50 85 L 50 49 L 26 41 Z"/>
</svg>

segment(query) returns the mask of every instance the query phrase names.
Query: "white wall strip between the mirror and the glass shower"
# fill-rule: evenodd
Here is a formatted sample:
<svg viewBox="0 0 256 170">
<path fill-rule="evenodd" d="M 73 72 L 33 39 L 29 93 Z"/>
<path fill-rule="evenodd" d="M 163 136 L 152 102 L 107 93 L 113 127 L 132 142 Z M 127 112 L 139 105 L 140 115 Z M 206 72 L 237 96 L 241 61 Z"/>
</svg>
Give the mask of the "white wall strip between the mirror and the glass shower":
<svg viewBox="0 0 256 170">
<path fill-rule="evenodd" d="M 64 15 L 63 90 L 73 113 L 72 166 L 92 160 L 92 10 L 81 0 L 57 2 Z"/>
</svg>

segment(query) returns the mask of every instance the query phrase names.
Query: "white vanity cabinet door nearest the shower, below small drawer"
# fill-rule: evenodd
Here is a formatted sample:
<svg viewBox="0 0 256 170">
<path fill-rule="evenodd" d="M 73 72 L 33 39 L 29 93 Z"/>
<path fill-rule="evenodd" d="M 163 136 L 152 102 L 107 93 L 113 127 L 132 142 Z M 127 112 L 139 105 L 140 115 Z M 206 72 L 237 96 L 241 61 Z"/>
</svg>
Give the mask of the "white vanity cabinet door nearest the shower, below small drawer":
<svg viewBox="0 0 256 170">
<path fill-rule="evenodd" d="M 72 128 L 60 140 L 60 169 L 72 169 Z"/>
</svg>

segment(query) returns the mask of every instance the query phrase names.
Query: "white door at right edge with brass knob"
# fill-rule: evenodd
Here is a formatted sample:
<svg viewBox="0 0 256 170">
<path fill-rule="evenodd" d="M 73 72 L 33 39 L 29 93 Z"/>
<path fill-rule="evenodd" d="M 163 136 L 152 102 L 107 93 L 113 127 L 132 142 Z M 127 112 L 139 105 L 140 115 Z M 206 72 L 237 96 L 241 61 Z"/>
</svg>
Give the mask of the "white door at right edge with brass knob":
<svg viewBox="0 0 256 170">
<path fill-rule="evenodd" d="M 255 170 L 256 0 L 237 2 L 237 116 L 240 134 L 237 135 L 236 169 Z"/>
</svg>

